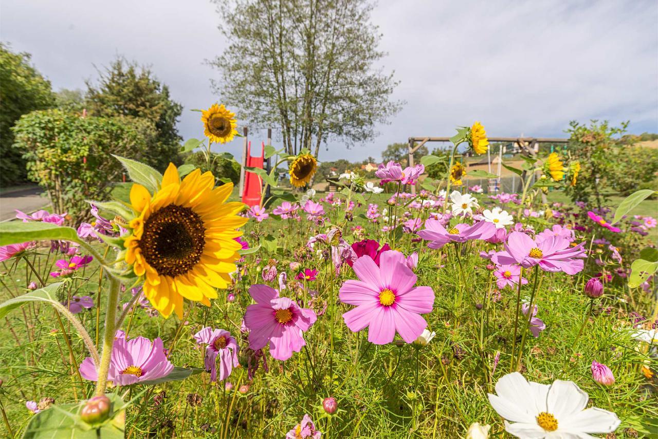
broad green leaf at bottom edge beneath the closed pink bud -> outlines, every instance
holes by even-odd
[[[24,439],[122,439],[124,437],[125,406],[117,394],[106,394],[112,401],[112,413],[97,428],[80,419],[84,401],[52,405],[30,418],[23,433]]]

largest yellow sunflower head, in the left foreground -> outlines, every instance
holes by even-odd
[[[126,263],[145,276],[144,295],[164,317],[182,317],[184,298],[210,305],[215,288],[231,283],[241,249],[236,229],[247,219],[236,215],[242,203],[225,203],[233,185],[214,186],[211,172],[195,169],[181,181],[170,163],[155,194],[140,184],[130,190],[139,216],[128,223]]]

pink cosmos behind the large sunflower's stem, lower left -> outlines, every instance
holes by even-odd
[[[137,337],[126,340],[123,331],[117,331],[107,379],[116,386],[128,386],[142,381],[157,380],[174,370],[174,365],[164,355],[163,341],[156,338]],[[90,381],[98,380],[93,359],[87,357],[80,363],[80,375]]]

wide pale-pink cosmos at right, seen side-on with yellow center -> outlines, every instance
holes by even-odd
[[[561,236],[533,240],[522,232],[511,232],[505,251],[493,255],[492,261],[499,265],[518,263],[526,269],[539,265],[544,271],[576,274],[582,271],[585,257],[582,243],[572,247],[569,240]]]

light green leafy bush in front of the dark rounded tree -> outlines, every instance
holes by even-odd
[[[45,189],[57,213],[68,212],[72,224],[89,217],[86,200],[107,199],[120,179],[122,167],[111,154],[139,159],[155,136],[145,120],[82,117],[61,110],[23,115],[13,131],[28,178]]]

